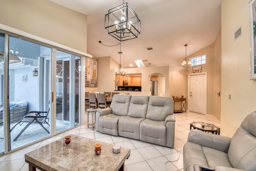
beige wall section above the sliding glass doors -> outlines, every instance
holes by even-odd
[[[86,15],[48,0],[0,0],[0,4],[1,24],[86,53]]]

